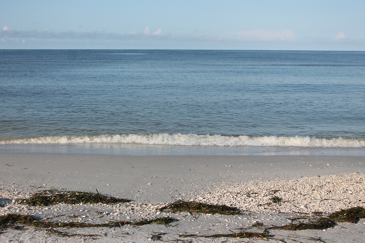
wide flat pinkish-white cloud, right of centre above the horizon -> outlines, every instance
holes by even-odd
[[[248,30],[237,33],[243,40],[294,40],[292,30],[270,31],[270,30]]]

